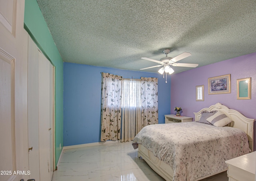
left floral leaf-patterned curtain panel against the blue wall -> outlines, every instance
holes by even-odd
[[[120,140],[121,76],[102,73],[100,141]]]

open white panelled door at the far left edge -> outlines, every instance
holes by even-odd
[[[28,179],[28,34],[24,0],[0,0],[0,180]]]

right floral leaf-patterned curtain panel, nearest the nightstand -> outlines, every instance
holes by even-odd
[[[141,78],[142,80],[142,127],[158,124],[158,79]]]

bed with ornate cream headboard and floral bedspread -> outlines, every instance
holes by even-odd
[[[230,118],[229,126],[215,127],[197,122],[202,112],[214,111]],[[193,122],[148,125],[132,142],[134,149],[138,147],[138,157],[167,181],[197,181],[210,177],[228,169],[226,160],[253,150],[255,119],[221,103],[194,115]]]

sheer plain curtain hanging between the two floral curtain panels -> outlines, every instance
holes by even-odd
[[[122,139],[133,140],[142,129],[141,80],[122,80]]]

